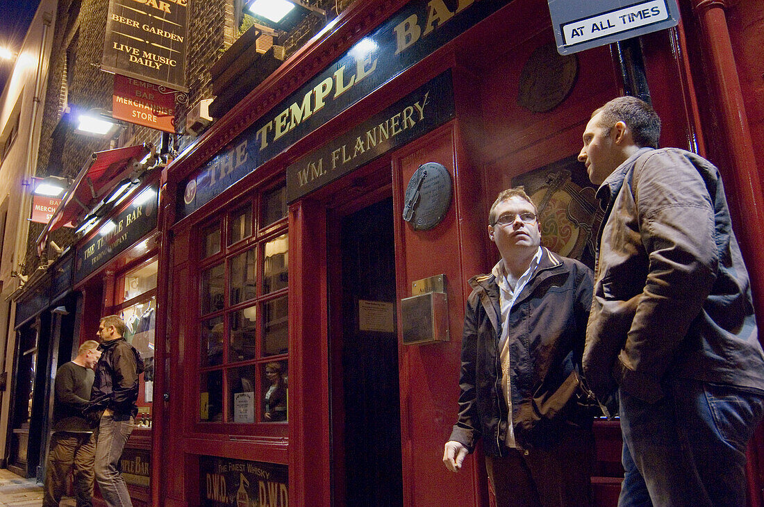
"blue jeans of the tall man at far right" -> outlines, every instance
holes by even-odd
[[[663,387],[652,404],[619,389],[626,473],[618,505],[746,505],[746,445],[764,397],[688,379]]]

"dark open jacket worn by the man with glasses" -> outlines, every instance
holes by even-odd
[[[449,440],[472,452],[483,437],[485,454],[507,447],[507,403],[498,349],[503,322],[493,274],[475,276],[461,339],[458,421]],[[591,270],[542,248],[536,273],[510,311],[510,384],[516,444],[550,447],[561,425],[591,425],[578,406],[584,333],[592,294]]]

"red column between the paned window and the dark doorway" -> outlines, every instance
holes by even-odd
[[[332,505],[325,208],[292,205],[289,231],[290,503]]]

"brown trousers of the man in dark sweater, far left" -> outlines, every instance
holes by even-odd
[[[43,507],[58,507],[66,492],[66,476],[73,470],[77,507],[92,507],[95,440],[89,433],[58,431],[50,438]]]

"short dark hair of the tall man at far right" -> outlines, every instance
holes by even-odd
[[[658,147],[661,137],[661,118],[647,102],[640,98],[626,95],[613,98],[610,102],[596,109],[591,117],[602,113],[600,121],[607,134],[619,121],[623,121],[630,129],[634,143],[640,147]]]

